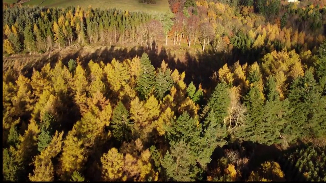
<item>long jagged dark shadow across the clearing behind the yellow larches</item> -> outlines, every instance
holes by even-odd
[[[47,63],[50,63],[51,67],[54,67],[58,60],[61,60],[62,63],[67,66],[70,59],[76,60],[79,58],[82,65],[86,66],[90,60],[94,62],[103,61],[103,63],[107,64],[110,63],[113,58],[122,62],[125,59],[132,59],[136,56],[141,57],[143,53],[147,53],[155,68],[160,67],[164,60],[168,63],[172,72],[174,69],[177,69],[179,73],[185,72],[186,84],[192,81],[196,86],[202,84],[203,89],[208,89],[212,87],[210,78],[213,76],[213,73],[217,73],[225,63],[232,66],[237,61],[239,61],[240,64],[250,61],[248,64],[251,64],[262,57],[262,54],[257,54],[257,50],[240,50],[236,48],[230,52],[221,51],[217,53],[214,53],[210,49],[205,51],[197,50],[196,53],[190,53],[187,50],[184,53],[184,58],[181,58],[181,60],[164,47],[158,50],[157,48],[147,49],[144,47],[133,47],[127,49],[111,46],[109,48],[99,48],[95,52],[85,52],[86,50],[81,48],[63,56],[61,56],[60,52],[54,53],[50,57],[48,55],[43,56],[32,66],[25,67],[23,73],[26,73],[26,77],[31,77],[33,67],[36,70],[40,70]]]

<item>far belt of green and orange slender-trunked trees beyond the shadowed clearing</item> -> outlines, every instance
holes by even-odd
[[[268,5],[264,4],[263,7],[272,6],[278,9],[281,5],[275,4],[275,2],[278,1],[272,1]],[[255,8],[249,6],[250,2],[248,6],[241,7],[240,14],[237,13],[236,7],[222,3],[207,3],[207,1],[194,3],[194,1],[176,0],[170,1],[170,5],[172,12],[175,13],[168,11],[163,14],[147,14],[115,9],[87,8],[84,10],[80,7],[67,7],[66,9],[5,7],[6,9],[3,11],[4,51],[7,54],[22,51],[32,54],[51,52],[54,48],[61,50],[66,46],[84,46],[86,44],[101,46],[137,44],[152,49],[153,46],[156,47],[155,43],[163,38],[165,45],[169,44],[169,39],[173,40],[173,45],[180,45],[183,42],[188,47],[200,43],[203,50],[207,45],[211,45],[209,49],[214,50],[215,53],[237,47],[232,41],[237,38],[241,39],[238,41],[246,42],[245,45],[249,48],[257,47],[255,41],[260,42],[259,45],[274,45],[275,47],[279,44],[287,44],[287,35],[283,36],[282,34],[286,34],[284,28],[285,30],[289,29],[289,25],[286,23],[288,15],[298,15],[299,17],[294,22],[298,21],[302,25],[298,24],[301,28],[289,29],[290,36],[291,34],[293,36],[295,36],[294,34],[307,35],[304,42],[310,49],[323,40],[320,35],[323,31],[323,18],[319,7],[294,8],[293,4],[282,6],[287,9],[286,13],[279,15],[280,18],[275,15],[276,18],[273,19],[275,23],[270,24],[276,25],[273,34],[284,32],[275,40],[274,36],[269,39],[263,32],[257,31],[261,28],[266,29],[268,23],[264,22],[264,17],[254,13]],[[277,14],[273,8],[267,8],[271,12],[265,11],[265,13],[267,12],[267,15],[272,12]],[[268,16],[265,15],[265,17]],[[245,26],[242,27],[242,25]],[[312,30],[308,31],[309,34],[307,26]],[[245,36],[237,37],[235,35]],[[321,38],[318,41],[313,40],[319,35]],[[249,39],[245,40],[245,37]],[[296,41],[293,42],[296,43]],[[229,44],[232,45],[231,48],[228,47]],[[287,47],[300,50],[302,46],[304,45],[289,45]]]

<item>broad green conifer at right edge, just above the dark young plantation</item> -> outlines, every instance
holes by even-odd
[[[319,137],[326,132],[325,97],[321,96],[311,70],[297,77],[290,85],[288,99],[293,113],[285,131],[292,139],[303,136]]]

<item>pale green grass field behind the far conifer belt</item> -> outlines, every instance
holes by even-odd
[[[13,3],[17,0],[4,0],[4,3]],[[39,5],[43,0],[30,0],[23,5]],[[43,7],[67,7],[82,6],[87,8],[117,8],[128,11],[166,12],[169,9],[168,0],[156,0],[156,4],[143,4],[138,0],[45,0],[40,6]]]

